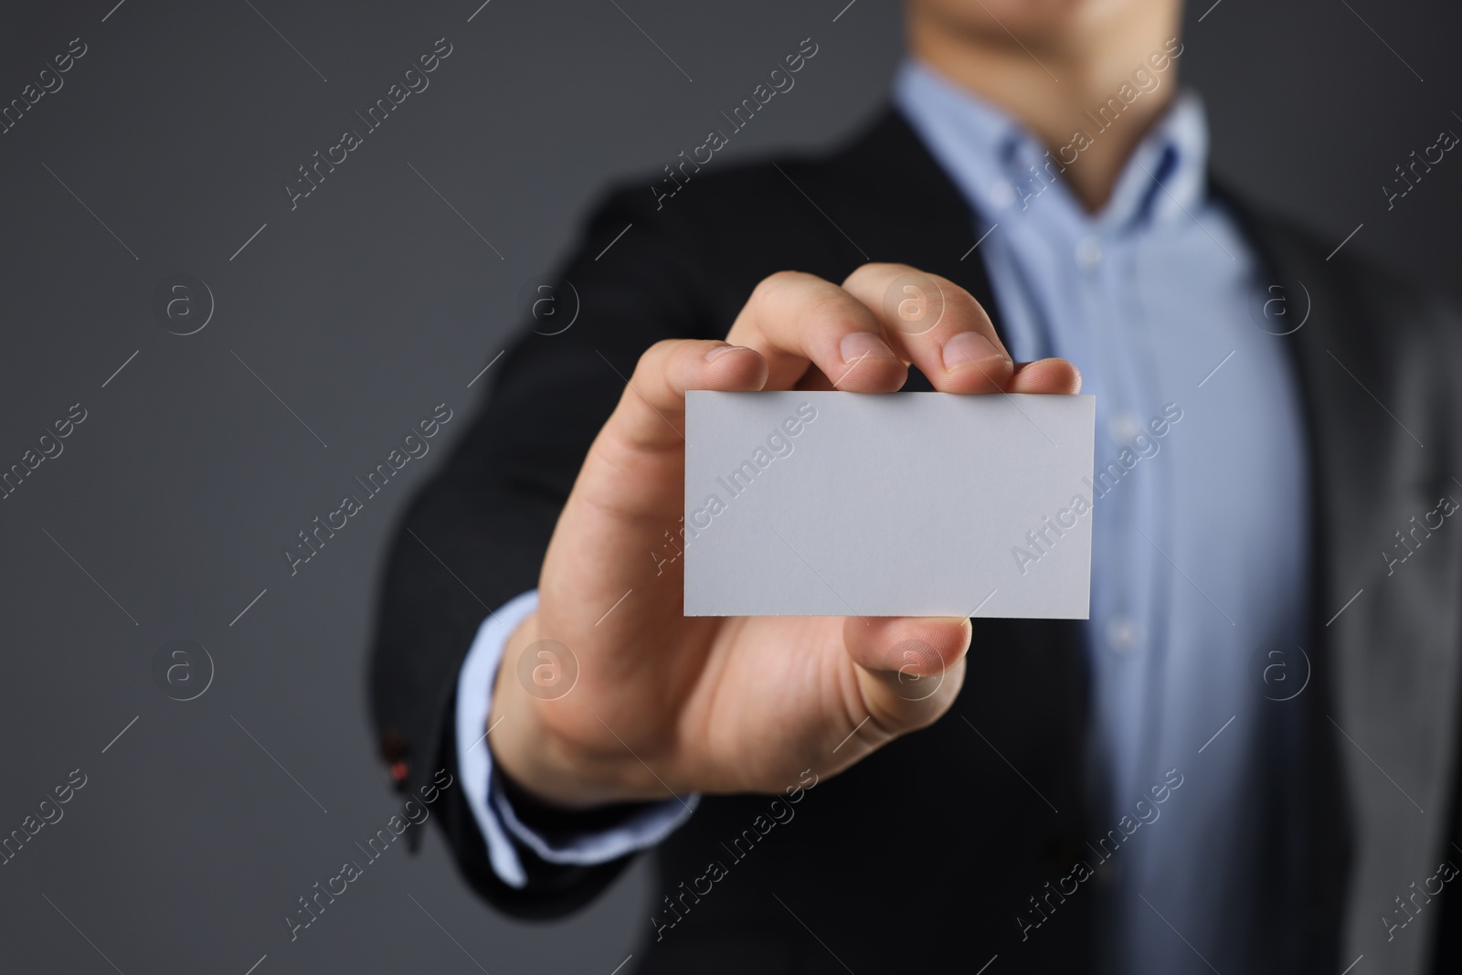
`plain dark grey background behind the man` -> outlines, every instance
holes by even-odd
[[[0,134],[0,468],[88,411],[0,501],[0,833],[88,776],[0,867],[0,969],[241,975],[268,955],[259,975],[472,959],[607,975],[649,933],[643,868],[572,921],[513,924],[434,833],[289,943],[295,898],[393,811],[363,667],[387,531],[605,183],[648,186],[804,37],[817,57],[724,155],[849,133],[899,57],[896,4],[493,0],[468,22],[480,0],[114,3],[0,12],[0,102],[73,37],[89,48]],[[1206,9],[1181,70],[1218,171],[1336,244],[1364,224],[1347,247],[1456,289],[1462,162],[1392,212],[1379,189],[1462,132],[1455,7],[1222,0],[1199,23]],[[440,37],[430,88],[291,212],[295,167]],[[151,311],[174,272],[216,301],[192,336]],[[443,401],[456,420],[431,455],[291,577],[281,548]],[[216,665],[186,703],[151,674],[174,639]]]

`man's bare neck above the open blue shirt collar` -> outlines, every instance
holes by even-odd
[[[1137,143],[1177,94],[1177,63],[1164,45],[1177,37],[1178,23],[1177,16],[1142,12],[1140,18],[1094,26],[1092,32],[1096,37],[1085,34],[1079,44],[1039,44],[1026,50],[1009,35],[1001,35],[1004,42],[1000,42],[958,34],[918,15],[908,23],[912,53],[949,80],[1019,118],[1053,156],[1060,156],[1073,193],[1089,212],[1096,212],[1111,197]],[[1149,61],[1154,53],[1168,58],[1164,70],[1155,70]],[[1133,80],[1136,69],[1155,79],[1156,88],[1148,80],[1145,86],[1151,91],[1142,91]],[[1120,113],[1108,108],[1099,114],[1108,99]],[[1077,132],[1088,139],[1073,145]]]

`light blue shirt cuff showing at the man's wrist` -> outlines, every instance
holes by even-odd
[[[503,659],[503,649],[513,630],[537,607],[538,592],[529,591],[491,612],[478,627],[458,675],[458,773],[468,807],[487,843],[493,873],[510,887],[523,887],[528,883],[528,874],[512,842],[515,838],[547,862],[589,867],[656,845],[690,819],[700,803],[699,795],[675,797],[636,808],[621,823],[608,829],[554,838],[541,836],[519,820],[493,766],[487,728],[493,683]]]

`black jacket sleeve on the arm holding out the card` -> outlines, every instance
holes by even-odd
[[[399,792],[417,792],[440,769],[455,773],[462,661],[493,610],[538,586],[558,512],[640,354],[665,338],[724,335],[728,319],[709,298],[713,268],[708,235],[674,208],[656,209],[640,189],[610,194],[561,272],[545,275],[557,282],[553,316],[519,326],[488,373],[491,395],[408,506],[387,555],[370,694],[379,753]],[[513,800],[531,810],[526,797]],[[434,819],[466,881],[513,915],[570,912],[629,860],[561,865],[520,846],[528,883],[509,887],[487,860],[461,788],[444,791]]]

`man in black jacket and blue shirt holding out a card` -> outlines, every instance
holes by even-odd
[[[848,148],[598,210],[392,554],[398,784],[516,915],[654,848],[645,972],[1446,971],[1455,319],[1211,184],[1177,0],[906,12]],[[1091,620],[683,617],[689,389],[1095,393]]]

